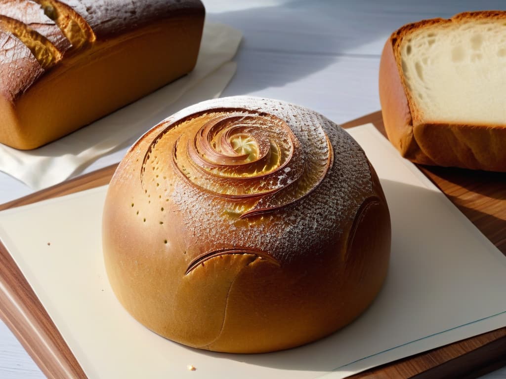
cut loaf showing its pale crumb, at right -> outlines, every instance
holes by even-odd
[[[421,164],[506,171],[506,12],[467,12],[394,32],[379,98],[389,139]]]

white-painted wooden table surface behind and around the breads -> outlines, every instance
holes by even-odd
[[[232,25],[244,35],[237,74],[223,96],[276,98],[312,108],[336,123],[379,110],[379,57],[392,31],[424,18],[504,7],[499,0],[203,2],[208,20]],[[124,153],[102,157],[83,173],[117,163]],[[0,204],[32,192],[0,172]],[[0,321],[0,378],[43,377]],[[506,379],[506,367],[484,378]]]

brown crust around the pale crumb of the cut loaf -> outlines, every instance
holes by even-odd
[[[465,12],[450,19],[422,20],[404,25],[385,43],[379,64],[379,100],[391,143],[412,162],[487,171],[506,171],[504,124],[427,122],[416,107],[402,74],[401,41],[411,31],[445,23],[506,19],[506,12]]]

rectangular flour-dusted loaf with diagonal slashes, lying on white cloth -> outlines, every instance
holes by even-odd
[[[0,0],[0,143],[34,149],[191,71],[200,0]]]

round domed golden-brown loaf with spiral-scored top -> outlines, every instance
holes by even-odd
[[[372,302],[390,214],[355,140],[284,102],[199,103],[141,137],[103,216],[124,308],[173,341],[259,353],[314,341]]]

